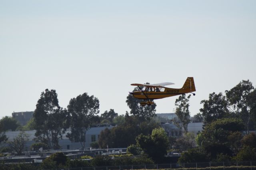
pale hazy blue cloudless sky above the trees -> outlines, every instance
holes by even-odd
[[[61,107],[87,92],[100,113],[131,83],[194,77],[191,115],[209,93],[256,87],[255,0],[0,0],[0,117],[33,111],[46,88]],[[177,97],[156,100],[171,113]]]

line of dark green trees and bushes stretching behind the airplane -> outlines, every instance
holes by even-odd
[[[164,130],[156,119],[156,104],[142,107],[140,100],[130,94],[126,100],[130,112],[118,116],[110,109],[99,116],[96,97],[84,93],[70,99],[67,109],[63,109],[58,104],[56,91],[46,89],[34,111],[37,143],[33,147],[60,148],[58,140],[67,129],[70,130],[67,137],[84,147],[86,130],[101,122],[118,126],[103,130],[93,147],[128,147],[129,153],[145,155],[156,163],[166,161],[164,155],[168,152],[183,151],[186,152],[182,153],[180,162],[256,160],[253,156],[256,137],[250,132],[256,128],[256,90],[249,80],[241,81],[225,91],[225,95],[209,94],[208,99],[201,101],[202,108],[194,117],[190,117],[189,100],[190,95],[184,94],[175,101],[178,118],[168,120],[178,127],[177,135],[173,136],[172,129]],[[197,136],[188,132],[191,121],[204,122]],[[4,130],[1,135],[1,141],[6,140]],[[22,135],[26,138],[25,134],[20,134],[20,138]]]

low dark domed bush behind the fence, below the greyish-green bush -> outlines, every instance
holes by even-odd
[[[178,160],[178,163],[194,163],[194,162],[208,162],[208,156],[199,148],[193,148],[187,152],[183,152]]]

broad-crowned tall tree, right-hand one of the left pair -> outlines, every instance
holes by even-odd
[[[70,130],[67,137],[72,141],[79,141],[85,147],[86,131],[96,123],[96,115],[99,113],[99,100],[84,93],[70,99],[68,113],[70,113]]]

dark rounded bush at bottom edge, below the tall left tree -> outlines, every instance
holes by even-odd
[[[41,167],[43,169],[64,168],[68,160],[62,152],[56,152],[43,160]]]

